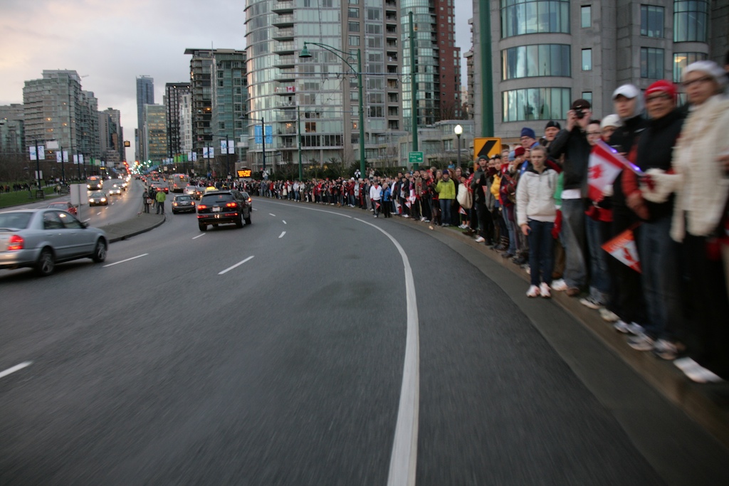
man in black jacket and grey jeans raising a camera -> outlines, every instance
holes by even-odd
[[[585,204],[588,190],[590,143],[587,127],[592,111],[590,102],[579,99],[567,111],[567,125],[550,145],[554,160],[564,155],[562,191],[562,241],[566,251],[564,281],[567,295],[577,297],[587,283],[585,259]],[[555,290],[565,290],[557,289]]]

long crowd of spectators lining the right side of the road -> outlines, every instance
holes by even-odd
[[[564,291],[625,333],[631,348],[674,360],[698,383],[728,380],[727,73],[698,61],[685,68],[682,86],[687,105],[680,107],[673,82],[644,92],[620,86],[615,113],[602,119],[578,99],[564,128],[550,121],[537,137],[525,127],[520,144],[473,168],[249,189],[459,227],[528,271],[529,297]],[[631,163],[595,194],[588,171],[599,141]],[[604,249],[626,230],[639,267]]]

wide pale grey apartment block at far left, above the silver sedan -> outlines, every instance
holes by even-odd
[[[81,89],[76,71],[44,70],[41,79],[26,81],[23,87],[26,145],[55,140],[87,160],[98,159],[97,111],[98,101],[93,92]]]

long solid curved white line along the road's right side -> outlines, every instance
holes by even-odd
[[[405,298],[408,309],[408,337],[405,338],[405,363],[402,366],[402,387],[397,408],[395,437],[392,442],[388,486],[415,486],[416,464],[418,463],[418,414],[420,413],[420,337],[418,330],[418,301],[415,293],[415,278],[408,255],[397,240],[380,227],[363,219],[356,221],[369,224],[391,240],[402,257],[405,267]]]

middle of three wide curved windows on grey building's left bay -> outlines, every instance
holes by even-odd
[[[570,72],[570,46],[541,44],[502,50],[502,79],[564,76]]]

